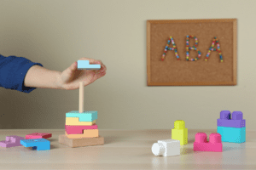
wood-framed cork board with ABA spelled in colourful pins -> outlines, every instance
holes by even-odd
[[[148,86],[236,85],[236,23],[236,19],[147,20]],[[186,60],[188,35],[198,39],[201,57],[195,61]],[[174,39],[180,60],[171,50],[161,59],[170,37]],[[223,62],[218,51],[212,51],[205,60],[214,37],[218,38]],[[194,45],[195,40],[189,38],[189,47]],[[171,42],[169,48],[172,47]],[[189,59],[197,55],[195,50],[189,50]]]

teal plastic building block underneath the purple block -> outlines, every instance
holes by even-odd
[[[246,127],[217,127],[222,142],[243,143],[246,141]]]

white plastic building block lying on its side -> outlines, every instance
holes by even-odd
[[[177,156],[180,155],[180,141],[174,139],[158,140],[151,148],[154,156]]]

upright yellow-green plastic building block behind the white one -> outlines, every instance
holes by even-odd
[[[188,144],[188,128],[185,127],[183,120],[177,120],[174,122],[174,128],[172,128],[172,139],[180,141],[180,144]]]

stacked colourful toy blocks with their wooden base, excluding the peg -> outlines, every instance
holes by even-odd
[[[59,142],[70,147],[104,144],[96,125],[97,111],[70,111],[66,113],[65,135],[60,135]]]

